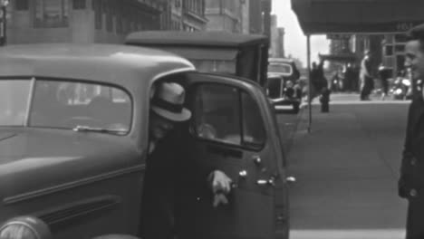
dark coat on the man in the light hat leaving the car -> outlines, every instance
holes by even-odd
[[[184,213],[178,210],[178,200],[198,192],[199,187],[208,190],[207,176],[214,168],[192,158],[190,147],[190,138],[177,129],[161,139],[149,155],[141,203],[143,239],[173,238],[176,214]]]

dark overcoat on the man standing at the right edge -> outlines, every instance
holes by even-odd
[[[400,167],[399,195],[409,201],[407,238],[424,238],[424,100],[410,104]]]

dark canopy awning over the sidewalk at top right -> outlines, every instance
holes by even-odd
[[[403,33],[424,23],[422,0],[292,0],[305,34]]]

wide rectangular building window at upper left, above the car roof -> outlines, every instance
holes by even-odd
[[[53,28],[69,25],[68,0],[35,0],[34,2],[35,27]]]

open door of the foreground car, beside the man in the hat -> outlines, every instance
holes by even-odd
[[[210,168],[224,171],[235,183],[232,192],[227,196],[228,204],[225,206],[212,206],[213,195],[209,190],[198,190],[191,196],[186,196],[181,200],[182,214],[179,219],[179,234],[181,238],[275,238],[275,185],[273,179],[278,178],[278,170],[275,169],[274,145],[272,139],[265,136],[261,138],[261,133],[255,132],[263,129],[265,132],[265,119],[260,111],[260,105],[255,99],[255,92],[251,91],[249,85],[242,81],[234,80],[230,77],[222,77],[208,74],[193,73],[188,75],[188,104],[193,111],[192,135],[194,137],[192,157],[198,160],[199,164]],[[215,100],[217,108],[226,110],[215,110],[208,107],[197,109],[196,95],[198,87],[202,85],[211,86],[202,91],[199,95],[204,101]],[[228,95],[213,95],[214,86],[216,92],[227,91]],[[231,89],[226,89],[226,87]],[[210,90],[210,91],[209,91]],[[222,91],[221,91],[222,90]],[[215,90],[214,90],[215,91]],[[234,94],[233,94],[234,92]],[[210,95],[208,95],[210,94]],[[231,100],[239,99],[240,105],[236,106]],[[257,112],[258,119],[256,125],[246,126],[244,120],[244,110],[242,104],[249,101],[252,105],[252,112]],[[191,100],[191,101],[190,101]],[[266,100],[264,98],[264,100]],[[204,102],[202,101],[202,104]],[[234,104],[234,109],[230,106]],[[246,104],[245,106],[248,106]],[[257,108],[257,109],[256,109]],[[208,115],[208,111],[222,115],[216,117],[213,113]],[[229,119],[232,114],[239,110],[240,121],[234,122]],[[199,116],[200,114],[200,116]],[[217,119],[215,119],[217,118]],[[257,118],[257,117],[256,117]],[[208,129],[210,132],[199,132],[196,120],[210,119]],[[256,121],[255,121],[256,122]],[[255,124],[253,122],[252,124]],[[215,125],[214,125],[215,124]],[[241,126],[240,126],[241,125]],[[217,127],[218,126],[218,127]],[[240,126],[240,140],[234,134],[235,127]],[[219,129],[221,128],[221,129]],[[246,129],[245,129],[246,128]],[[257,129],[256,129],[257,128]],[[215,131],[214,131],[215,130]],[[229,134],[226,136],[225,133]],[[268,133],[265,132],[265,135]],[[258,136],[259,137],[255,137]],[[257,144],[256,139],[262,142]],[[196,189],[195,189],[196,190]]]

